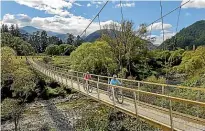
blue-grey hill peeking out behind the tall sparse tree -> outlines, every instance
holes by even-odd
[[[97,30],[97,31],[95,31],[95,32],[93,32],[93,33],[91,33],[91,34],[89,34],[89,35],[84,39],[84,41],[86,41],[86,42],[94,42],[94,41],[96,41],[98,38],[100,38],[101,35],[102,35],[103,33],[105,33],[105,32],[106,32],[105,29]],[[119,32],[118,32],[118,33],[119,33]],[[113,34],[111,31],[109,31],[109,35],[111,35],[111,37],[114,37],[114,34]],[[149,50],[153,50],[153,49],[156,49],[157,46],[155,46],[155,45],[153,45],[153,43],[147,41],[147,48],[148,48]]]

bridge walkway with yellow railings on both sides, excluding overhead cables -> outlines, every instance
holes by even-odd
[[[101,75],[92,75],[92,80],[89,80],[94,87],[92,93],[89,93],[84,90],[82,81],[83,74],[82,72],[71,71],[68,69],[58,68],[52,65],[44,64],[39,62],[38,59],[29,57],[28,62],[30,65],[43,73],[44,75],[52,78],[53,80],[76,90],[84,95],[91,97],[94,100],[100,101],[108,106],[116,108],[119,111],[122,111],[128,115],[139,117],[144,119],[145,121],[161,128],[164,131],[168,130],[179,130],[179,131],[204,131],[205,130],[205,117],[200,115],[190,115],[177,110],[174,110],[173,103],[185,104],[186,108],[190,108],[190,105],[193,105],[197,110],[201,109],[203,112],[205,111],[205,103],[202,101],[195,101],[190,99],[184,99],[180,97],[174,97],[167,95],[166,92],[169,90],[167,88],[174,89],[182,89],[182,90],[193,90],[199,93],[205,93],[205,89],[203,88],[191,88],[191,87],[183,87],[176,85],[166,85],[166,84],[157,84],[151,82],[143,82],[143,81],[133,81],[127,79],[121,79],[122,83],[125,86],[116,86],[115,88],[119,88],[123,90],[124,102],[119,104],[115,99],[110,99],[107,95],[106,88],[110,87],[109,81],[111,77],[101,76]],[[137,87],[135,88],[134,84],[130,87],[129,83],[136,83]],[[154,87],[161,88],[161,93],[156,92],[148,92],[143,91],[142,85],[147,84]],[[127,87],[126,87],[127,85]],[[151,98],[151,100],[144,100],[146,98]],[[114,98],[114,97],[113,97]],[[157,98],[157,99],[156,99]],[[159,99],[163,99],[168,102],[167,106],[160,106],[159,104],[153,103],[153,101],[157,101]],[[151,102],[152,101],[152,102]],[[163,103],[163,101],[161,101]],[[191,110],[191,108],[190,108]]]

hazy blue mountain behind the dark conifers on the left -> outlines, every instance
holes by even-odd
[[[37,31],[43,31],[42,29],[38,29],[38,28],[35,28],[33,26],[24,26],[22,28],[20,28],[20,32],[22,34],[33,34],[33,32],[37,32]],[[46,31],[48,36],[56,36],[56,37],[59,37],[61,40],[63,41],[66,41],[67,38],[68,38],[68,35],[67,34],[61,34],[61,33],[57,33],[57,32],[52,32],[52,31]]]

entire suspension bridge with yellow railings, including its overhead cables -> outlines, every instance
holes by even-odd
[[[177,16],[176,32],[178,30],[179,18],[181,7],[189,3],[188,0],[180,6],[171,10],[163,15],[162,2],[160,0],[160,18],[148,24],[145,28],[150,28],[150,37],[152,33],[152,26],[154,23],[161,20],[163,41],[164,41],[164,27],[163,18],[171,14],[172,12],[179,10]],[[86,35],[86,30],[98,18],[99,28],[101,29],[100,13],[104,7],[108,4],[108,1],[102,6],[100,11],[91,20],[88,26],[80,34]],[[120,1],[121,5],[121,1]],[[121,5],[121,19],[124,21],[123,10]],[[122,30],[123,32],[123,30]],[[151,39],[151,38],[150,38]],[[177,42],[176,35],[174,43]],[[166,48],[164,48],[166,49]],[[67,52],[67,51],[65,51]],[[86,96],[91,97],[96,101],[100,101],[108,106],[111,106],[117,110],[120,110],[133,117],[142,118],[146,122],[153,124],[161,128],[164,131],[177,130],[177,131],[205,131],[205,103],[200,99],[200,96],[205,95],[205,89],[197,87],[184,87],[176,85],[167,85],[159,83],[151,83],[144,81],[120,79],[123,83],[122,86],[116,86],[122,90],[124,102],[119,104],[113,94],[114,99],[110,99],[107,94],[107,89],[110,88],[109,81],[111,77],[92,74],[92,80],[89,80],[91,86],[94,88],[92,93],[85,91],[83,88],[83,72],[71,71],[64,68],[55,67],[52,65],[39,62],[35,57],[28,57],[30,65],[48,76],[49,78],[65,85],[68,88],[72,88]],[[143,88],[151,87],[150,91],[143,90]],[[193,99],[182,98],[182,96],[173,96],[172,92],[175,91],[193,91],[197,92],[198,97]],[[180,94],[180,93],[179,93]]]

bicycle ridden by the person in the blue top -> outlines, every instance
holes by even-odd
[[[114,89],[112,89],[112,88],[114,88]],[[117,102],[119,104],[122,104],[123,101],[124,101],[124,96],[122,94],[122,89],[119,89],[119,88],[116,88],[116,87],[109,87],[108,95],[109,95],[110,100],[113,100],[113,91],[114,91],[114,97],[117,100]]]

